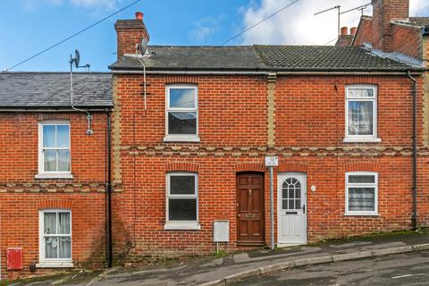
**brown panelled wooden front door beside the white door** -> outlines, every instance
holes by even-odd
[[[264,174],[237,175],[237,242],[264,245]]]

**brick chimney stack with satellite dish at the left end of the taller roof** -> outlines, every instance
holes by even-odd
[[[122,55],[136,54],[136,45],[140,44],[142,38],[149,41],[141,12],[136,12],[136,19],[116,21],[114,29],[116,29],[118,59]]]

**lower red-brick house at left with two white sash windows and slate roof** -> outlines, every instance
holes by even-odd
[[[0,72],[4,279],[11,248],[21,248],[14,265],[19,267],[22,257],[22,275],[105,261],[106,113],[113,107],[112,78],[94,72],[73,78],[74,108],[81,111],[71,107],[70,73]]]

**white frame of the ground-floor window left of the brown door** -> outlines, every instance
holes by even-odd
[[[195,178],[195,193],[193,195],[172,195],[170,193],[171,176],[193,176]],[[195,230],[199,231],[198,215],[198,173],[197,172],[167,172],[165,175],[165,225],[164,230]],[[195,198],[197,200],[197,220],[196,221],[170,221],[169,220],[169,198]]]

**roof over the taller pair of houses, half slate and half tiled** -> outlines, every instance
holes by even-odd
[[[148,71],[405,71],[404,63],[356,46],[149,46]],[[142,70],[124,55],[112,71]]]

